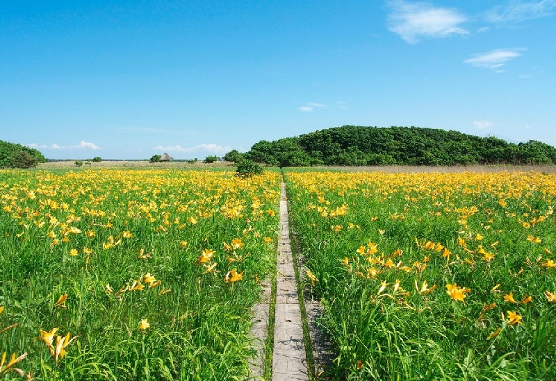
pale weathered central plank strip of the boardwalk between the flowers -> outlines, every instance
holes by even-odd
[[[281,184],[274,354],[272,355],[272,381],[281,380],[309,380],[284,183]]]

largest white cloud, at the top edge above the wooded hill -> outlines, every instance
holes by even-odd
[[[439,8],[430,3],[389,2],[389,29],[405,42],[416,44],[419,37],[448,37],[469,33],[459,25],[467,18],[457,10]]]

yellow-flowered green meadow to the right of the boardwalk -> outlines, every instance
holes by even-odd
[[[329,379],[556,379],[554,173],[285,178]]]

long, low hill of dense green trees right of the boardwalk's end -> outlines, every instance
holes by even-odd
[[[419,127],[343,126],[255,143],[245,158],[279,167],[326,165],[556,164],[543,142],[509,143]]]

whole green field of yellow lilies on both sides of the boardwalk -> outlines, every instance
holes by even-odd
[[[0,171],[0,378],[245,380],[278,171],[63,163]],[[284,169],[329,379],[556,379],[554,167],[380,169]]]

